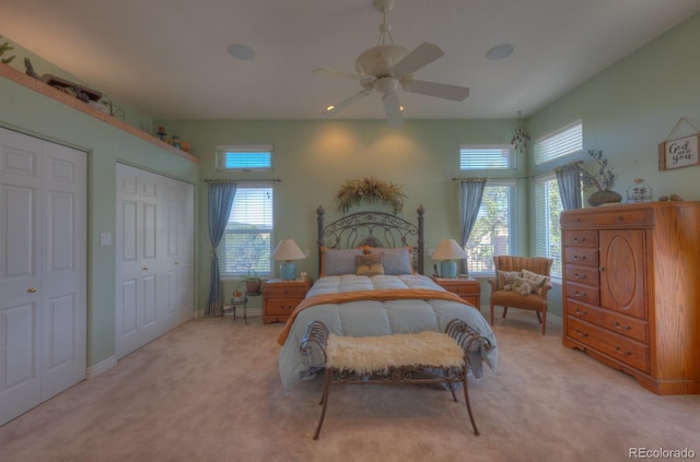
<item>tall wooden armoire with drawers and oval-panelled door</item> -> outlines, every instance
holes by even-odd
[[[700,393],[700,202],[561,214],[563,344],[657,394]]]

